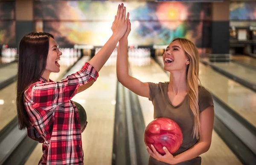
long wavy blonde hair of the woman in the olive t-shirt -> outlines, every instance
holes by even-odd
[[[185,51],[186,57],[189,58],[189,65],[187,68],[187,85],[188,85],[188,98],[189,107],[194,116],[194,127],[193,127],[193,137],[199,139],[200,135],[200,121],[199,121],[199,106],[198,106],[198,85],[199,80],[199,55],[198,49],[195,44],[190,40],[184,38],[175,38],[173,41],[178,40],[183,50]],[[172,42],[173,42],[172,41]]]

